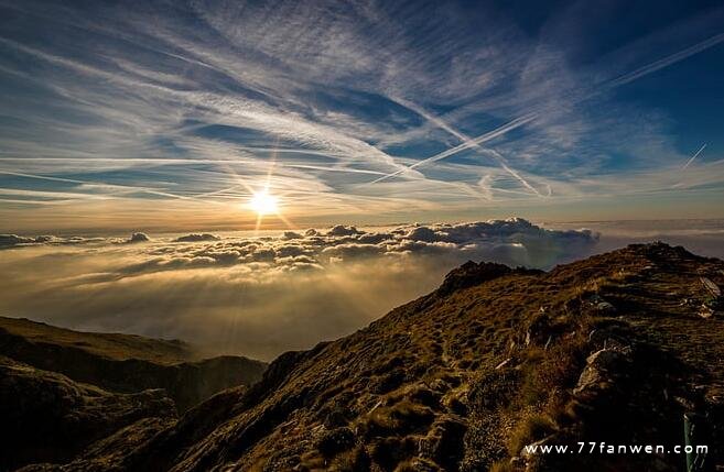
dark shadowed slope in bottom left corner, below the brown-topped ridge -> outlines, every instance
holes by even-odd
[[[0,356],[0,470],[66,462],[120,428],[142,421],[159,430],[175,416],[163,391],[114,394]]]

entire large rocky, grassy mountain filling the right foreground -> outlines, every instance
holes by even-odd
[[[467,263],[352,336],[282,354],[246,392],[24,470],[681,471],[684,454],[527,448],[689,441],[710,448],[691,470],[713,471],[723,271],[661,243],[548,273]]]

